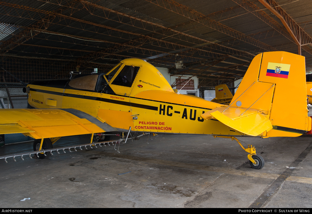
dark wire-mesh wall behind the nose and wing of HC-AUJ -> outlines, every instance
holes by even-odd
[[[90,74],[96,69],[106,73],[114,66],[69,60],[0,57],[0,108],[27,108],[27,94],[22,92],[24,85],[20,82],[70,78],[71,71]],[[23,134],[0,135],[0,145],[28,140],[32,138]]]

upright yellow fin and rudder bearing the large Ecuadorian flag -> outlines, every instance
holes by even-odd
[[[252,60],[231,106],[267,114],[273,128],[264,136],[300,136],[311,129],[305,81],[305,57],[283,51],[259,54]],[[284,105],[286,98],[291,102]]]

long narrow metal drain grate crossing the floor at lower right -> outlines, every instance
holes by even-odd
[[[290,176],[290,174],[296,169],[298,164],[305,158],[305,156],[311,151],[312,143],[292,162],[289,168],[278,177],[276,180],[264,191],[255,202],[253,202],[249,208],[261,208],[266,201],[273,195],[273,193],[280,187],[280,185]]]

